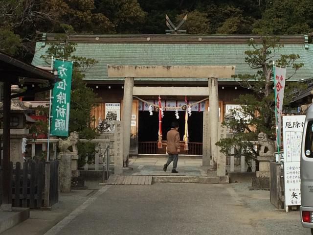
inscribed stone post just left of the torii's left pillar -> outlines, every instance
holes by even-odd
[[[123,122],[115,121],[114,130],[114,175],[123,174]]]

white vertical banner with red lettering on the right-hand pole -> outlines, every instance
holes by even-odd
[[[286,82],[286,68],[275,67],[275,111],[276,111],[276,136],[277,145],[281,143],[281,130],[282,130],[282,111],[284,90]]]

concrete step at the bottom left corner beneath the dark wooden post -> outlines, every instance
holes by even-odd
[[[29,218],[29,208],[13,207],[13,211],[0,211],[0,233]]]

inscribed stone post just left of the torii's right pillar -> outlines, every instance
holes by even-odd
[[[211,160],[210,118],[209,112],[203,112],[202,166],[209,166]]]

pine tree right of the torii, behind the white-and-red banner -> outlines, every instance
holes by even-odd
[[[257,141],[258,133],[266,133],[270,140],[275,140],[275,101],[273,84],[272,61],[274,52],[283,45],[279,44],[279,38],[262,38],[262,44],[249,42],[251,50],[245,52],[246,63],[257,70],[256,74],[238,74],[235,80],[244,88],[253,91],[253,94],[242,94],[234,101],[240,104],[239,109],[232,110],[234,118],[224,122],[228,128],[234,131],[233,138],[226,138],[218,143],[224,154],[229,155],[230,148],[235,147],[235,155],[245,155],[247,158],[256,158],[258,152],[253,149],[253,141]],[[299,55],[281,55],[275,60],[275,64],[293,71],[293,76],[303,64],[296,63]],[[287,77],[286,80],[291,78]],[[290,101],[301,91],[306,89],[305,84],[289,83],[285,85],[283,109],[288,109]],[[240,111],[240,112],[239,112]],[[241,116],[238,116],[241,113]],[[249,118],[246,118],[249,117]]]

